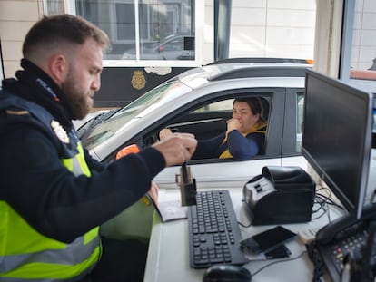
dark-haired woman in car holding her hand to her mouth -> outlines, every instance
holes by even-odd
[[[266,123],[261,117],[262,106],[258,98],[235,99],[233,118],[227,121],[227,131],[207,140],[199,140],[193,159],[247,160],[263,154]],[[171,134],[169,129],[160,132],[163,140]]]

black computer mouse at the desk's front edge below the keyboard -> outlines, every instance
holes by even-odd
[[[241,266],[215,265],[203,273],[203,282],[250,282],[251,272]]]

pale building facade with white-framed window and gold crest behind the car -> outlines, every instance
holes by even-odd
[[[213,62],[221,1],[1,0],[2,75],[18,69],[25,34],[40,17],[82,15],[111,39],[96,106],[124,105],[177,73]],[[338,68],[344,0],[228,1],[228,57],[314,59],[324,72]],[[376,58],[376,2],[355,3],[351,67],[368,69]]]

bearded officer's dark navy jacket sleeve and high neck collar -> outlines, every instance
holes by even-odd
[[[26,60],[3,92],[44,107],[64,131],[74,131],[64,93],[41,69]],[[163,170],[163,155],[148,148],[104,165],[85,151],[92,176],[75,177],[45,124],[20,109],[0,112],[0,199],[47,237],[71,242],[132,205]],[[73,216],[74,215],[74,216]]]

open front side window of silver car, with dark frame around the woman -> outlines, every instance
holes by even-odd
[[[258,88],[245,91],[242,89],[242,92],[214,92],[212,95],[206,96],[206,99],[197,99],[187,104],[180,104],[180,107],[175,107],[173,112],[166,112],[161,118],[155,119],[153,122],[148,119],[147,122],[152,122],[149,126],[119,145],[117,150],[108,155],[104,161],[113,161],[117,151],[133,143],[140,150],[152,146],[159,141],[159,132],[164,128],[177,132],[193,133],[199,140],[223,134],[227,129],[226,122],[232,117],[233,100],[247,97],[258,97],[262,101],[262,118],[267,123],[264,154],[253,156],[250,160],[268,159],[267,161],[272,161],[272,159],[281,158],[285,93],[285,88]],[[155,111],[161,111],[158,108]],[[125,125],[123,131],[128,131]],[[190,162],[197,164],[233,161],[239,160],[219,158],[190,160]]]

